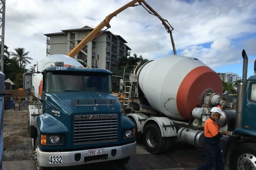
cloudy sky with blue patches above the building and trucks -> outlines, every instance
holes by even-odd
[[[23,47],[37,62],[46,56],[45,33],[96,27],[129,0],[7,0],[5,44]],[[242,75],[241,52],[249,57],[248,75],[256,58],[255,0],[146,0],[174,27],[178,55],[202,60],[216,72]],[[110,21],[132,49],[147,59],[173,54],[170,35],[161,21],[141,7],[128,8]],[[34,64],[34,61],[32,62]]]

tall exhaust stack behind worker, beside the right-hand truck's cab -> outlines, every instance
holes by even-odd
[[[242,127],[242,114],[243,114],[243,105],[244,105],[244,95],[246,90],[247,82],[247,66],[248,66],[248,57],[245,50],[242,51],[243,62],[243,75],[242,83],[238,83],[237,86],[237,109],[236,109],[236,128]]]

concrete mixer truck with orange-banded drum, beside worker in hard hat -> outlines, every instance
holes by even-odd
[[[135,66],[124,91],[124,112],[136,124],[136,139],[143,139],[150,153],[162,153],[175,141],[204,148],[203,127],[210,109],[221,107],[220,130],[225,163],[232,170],[256,168],[256,74],[237,90],[237,110],[225,110],[219,75],[196,58],[172,55]],[[256,62],[255,62],[256,73]],[[129,103],[128,101],[136,102]]]

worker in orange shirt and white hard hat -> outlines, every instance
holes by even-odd
[[[219,143],[221,142],[222,135],[227,135],[228,132],[219,132],[219,125],[216,123],[216,121],[222,116],[221,109],[219,107],[212,107],[210,112],[210,118],[208,118],[204,123],[207,162],[196,170],[211,170],[214,167],[214,164],[216,170],[224,170],[225,167]]]

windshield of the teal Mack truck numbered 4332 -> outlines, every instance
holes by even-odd
[[[71,91],[111,93],[110,75],[95,72],[47,72],[46,92],[58,93]]]

